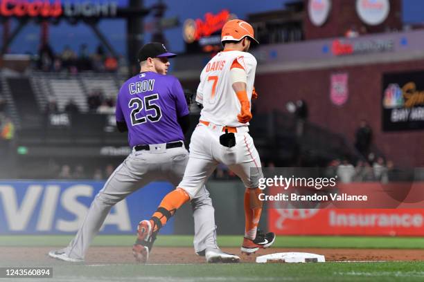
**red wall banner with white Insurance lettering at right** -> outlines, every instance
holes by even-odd
[[[268,187],[268,227],[280,235],[424,236],[423,191],[424,182],[408,181]]]

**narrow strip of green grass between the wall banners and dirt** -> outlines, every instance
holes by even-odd
[[[0,246],[64,246],[73,236],[0,236]],[[135,236],[102,235],[94,238],[96,246],[128,246]],[[241,236],[218,236],[221,247],[239,247]],[[191,247],[193,236],[158,236],[156,246]],[[416,237],[353,237],[353,236],[278,236],[274,247],[348,247],[377,249],[424,249],[424,238]]]

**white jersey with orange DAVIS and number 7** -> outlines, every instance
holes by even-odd
[[[229,50],[218,53],[203,68],[197,88],[196,102],[203,104],[200,120],[222,126],[248,126],[238,122],[241,105],[233,90],[230,69],[234,60],[245,68],[247,98],[251,100],[256,73],[256,59],[246,52]]]

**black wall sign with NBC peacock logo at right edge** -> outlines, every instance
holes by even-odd
[[[424,129],[424,70],[383,75],[382,129]]]

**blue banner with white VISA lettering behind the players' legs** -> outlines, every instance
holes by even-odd
[[[0,234],[75,234],[103,181],[0,181]],[[112,207],[100,234],[136,234],[173,190],[152,182]],[[171,219],[161,234],[173,234]]]

